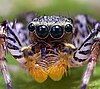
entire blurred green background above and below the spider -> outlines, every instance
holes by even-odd
[[[39,15],[63,15],[72,18],[78,14],[87,14],[99,20],[100,0],[0,0],[0,21],[13,20],[18,14],[29,11]],[[85,65],[71,69],[69,75],[61,81],[48,79],[39,84],[20,67],[16,67],[19,65],[10,54],[7,55],[7,62],[9,66],[13,65],[10,73],[14,89],[79,89],[86,68]],[[0,89],[5,89],[1,75]],[[100,63],[95,68],[89,89],[100,89]]]

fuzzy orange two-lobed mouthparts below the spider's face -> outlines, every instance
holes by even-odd
[[[41,52],[28,58],[27,67],[38,82],[44,82],[48,76],[54,81],[62,78],[70,68],[69,55],[56,49],[43,48]]]

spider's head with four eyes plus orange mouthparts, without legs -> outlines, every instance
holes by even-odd
[[[71,20],[60,16],[41,16],[34,18],[28,29],[34,49],[31,50],[34,53],[31,58],[30,55],[25,57],[30,73],[38,82],[43,82],[48,76],[53,80],[60,80],[69,68],[72,55],[64,52],[66,44],[72,43]]]

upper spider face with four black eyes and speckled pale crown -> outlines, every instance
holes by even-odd
[[[30,36],[32,40],[37,41],[69,41],[72,37],[73,25],[72,21],[60,16],[41,16],[34,18],[28,24]]]

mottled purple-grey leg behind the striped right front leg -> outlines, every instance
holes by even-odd
[[[73,44],[79,48],[92,30],[89,30],[88,25],[93,28],[97,21],[87,15],[78,15],[75,17],[73,29]]]

